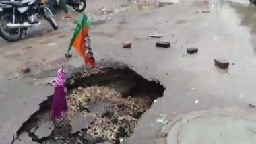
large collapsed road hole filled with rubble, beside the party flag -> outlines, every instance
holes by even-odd
[[[13,143],[121,143],[165,89],[159,81],[148,81],[128,67],[82,70],[66,86],[69,119],[51,122],[49,96],[17,131]]]

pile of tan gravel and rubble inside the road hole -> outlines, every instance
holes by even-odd
[[[150,98],[122,98],[120,92],[111,87],[92,86],[74,89],[67,97],[68,115],[93,114],[95,122],[86,133],[94,140],[119,141],[129,137],[141,114],[150,108]]]

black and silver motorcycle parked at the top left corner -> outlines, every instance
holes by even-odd
[[[44,3],[36,0],[0,1],[0,36],[16,42],[29,27],[39,26],[42,16],[54,30],[58,29],[53,13]]]

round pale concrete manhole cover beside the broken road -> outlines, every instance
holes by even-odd
[[[167,144],[254,144],[256,143],[254,120],[224,112],[219,114],[206,111],[193,112],[171,120],[162,129],[162,136],[164,143]]]

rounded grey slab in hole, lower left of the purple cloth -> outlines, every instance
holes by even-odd
[[[51,129],[49,129],[51,127]],[[49,137],[53,131],[54,127],[51,122],[42,123],[38,129],[35,131],[35,135],[38,137],[38,139]]]

